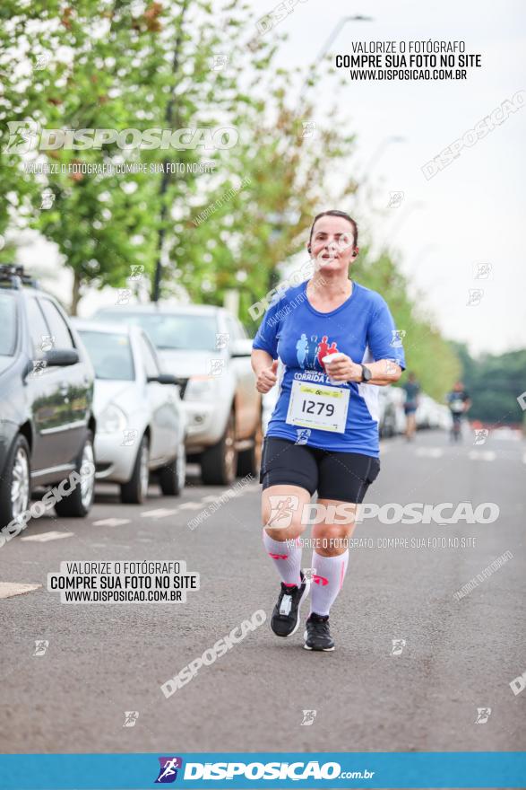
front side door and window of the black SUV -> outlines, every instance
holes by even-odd
[[[46,351],[56,346],[40,302],[36,295],[26,297],[33,355],[33,369],[26,378],[26,387],[35,430],[31,459],[31,477],[35,482],[39,472],[56,466],[67,467],[72,460],[67,439],[71,404],[63,386],[63,369],[46,364]]]

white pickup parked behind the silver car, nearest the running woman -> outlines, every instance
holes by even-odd
[[[236,474],[259,474],[262,401],[250,364],[252,340],[237,318],[212,305],[116,305],[99,320],[140,326],[163,368],[181,382],[188,421],[188,461],[203,483],[230,485]]]

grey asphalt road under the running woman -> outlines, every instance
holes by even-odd
[[[384,443],[367,500],[493,502],[495,523],[367,520],[354,537],[374,546],[351,551],[333,653],[304,650],[303,628],[280,640],[267,621],[168,699],[161,683],[254,611],[270,618],[279,583],[261,544],[259,485],[194,530],[189,519],[224,492],[192,474],[181,497],[151,487],[147,504],[120,505],[107,487],[84,521],[31,522],[0,549],[1,750],[523,750],[526,690],[515,696],[509,684],[526,671],[526,447],[472,442],[450,446],[434,432]],[[378,545],[392,537],[474,540]],[[454,597],[504,552],[513,555],[504,566]],[[143,559],[185,560],[201,588],[185,603],[68,605],[47,592],[62,561]],[[20,587],[5,583],[39,586],[13,594]],[[393,639],[405,640],[401,654]],[[36,640],[48,641],[44,654]],[[486,723],[475,723],[478,708],[491,708]],[[302,724],[304,710],[316,712],[312,724]],[[125,711],[139,713],[134,725],[124,726]]]

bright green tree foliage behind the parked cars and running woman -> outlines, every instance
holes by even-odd
[[[123,287],[133,265],[152,277],[162,259],[162,296],[177,283],[195,302],[222,304],[237,288],[240,318],[254,331],[248,307],[303,248],[312,216],[346,205],[358,189],[348,176],[340,192],[327,190],[332,172],[346,172],[354,144],[337,97],[326,118],[316,117],[315,133],[305,133],[322,66],[309,69],[305,92],[292,101],[304,75],[275,66],[283,37],[254,35],[253,13],[235,2],[4,0],[0,19],[2,128],[30,119],[57,129],[233,127],[239,134],[225,150],[59,148],[39,154],[37,162],[57,166],[45,176],[24,171],[35,154],[4,152],[0,134],[0,233],[25,224],[56,242],[73,270],[73,313],[87,288]],[[227,60],[213,68],[218,56]],[[215,171],[192,171],[202,160]],[[168,162],[190,170],[170,174]],[[80,163],[153,171],[68,170]],[[55,198],[49,209],[40,208],[44,188]],[[13,259],[13,250],[0,251],[2,259]],[[353,276],[384,296],[406,332],[410,370],[442,399],[459,373],[457,356],[410,302],[390,255],[371,259],[362,250]]]

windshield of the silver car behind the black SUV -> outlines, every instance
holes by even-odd
[[[134,382],[134,357],[127,335],[91,329],[81,329],[79,334],[88,349],[98,379]]]

